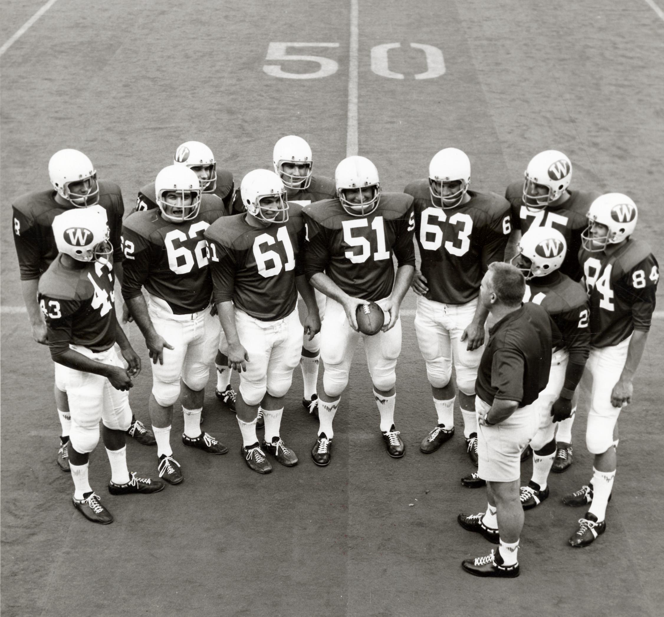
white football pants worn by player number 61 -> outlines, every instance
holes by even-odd
[[[266,393],[277,398],[286,396],[301,355],[302,326],[297,309],[284,319],[261,321],[236,308],[235,325],[249,355],[246,371],[240,373],[244,402],[257,405]]]

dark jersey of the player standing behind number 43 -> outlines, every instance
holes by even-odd
[[[110,240],[113,244],[113,260],[122,262],[122,217],[124,203],[118,185],[98,181],[99,205],[106,210]],[[55,201],[55,191],[35,191],[21,195],[13,203],[13,232],[16,253],[19,257],[21,280],[39,278],[58,254],[53,236],[53,219],[74,205],[62,206]]]

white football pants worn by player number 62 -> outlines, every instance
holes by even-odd
[[[191,390],[205,388],[214,361],[221,326],[210,308],[198,313],[174,315],[167,302],[149,296],[148,313],[155,330],[175,349],[163,350],[163,365],[152,365],[152,393],[167,407],[180,395],[180,379]]]

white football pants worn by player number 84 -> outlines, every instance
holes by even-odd
[[[581,379],[581,389],[590,400],[586,445],[590,454],[603,454],[614,443],[614,428],[620,407],[611,404],[611,393],[627,361],[631,336],[612,347],[590,348],[590,357]]]

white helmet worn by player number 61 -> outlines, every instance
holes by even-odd
[[[246,211],[267,223],[288,220],[288,195],[282,179],[269,169],[254,169],[240,183]]]

